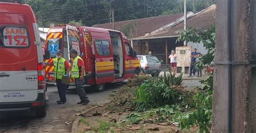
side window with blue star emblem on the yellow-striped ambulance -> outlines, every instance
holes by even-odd
[[[95,40],[96,51],[101,56],[110,55],[109,41]]]

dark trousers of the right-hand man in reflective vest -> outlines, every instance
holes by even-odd
[[[76,88],[77,88],[77,93],[79,95],[79,98],[81,101],[89,101],[85,91],[84,91],[84,82],[81,81],[79,78],[75,78],[75,82],[76,82]]]

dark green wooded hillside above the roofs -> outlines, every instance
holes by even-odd
[[[110,23],[110,7],[115,12],[115,21],[156,17],[184,10],[183,1],[169,0],[25,0],[24,3],[32,7],[39,26],[45,27],[51,23],[68,24],[69,20],[82,20],[86,26]],[[187,11],[196,13],[211,4],[214,0],[188,0]]]

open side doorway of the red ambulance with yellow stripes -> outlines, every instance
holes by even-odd
[[[120,34],[116,32],[110,32],[110,38],[113,48],[113,60],[114,60],[114,78],[123,77],[123,48]]]

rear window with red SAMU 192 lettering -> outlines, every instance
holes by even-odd
[[[0,47],[26,48],[29,45],[28,30],[25,27],[0,28]]]

